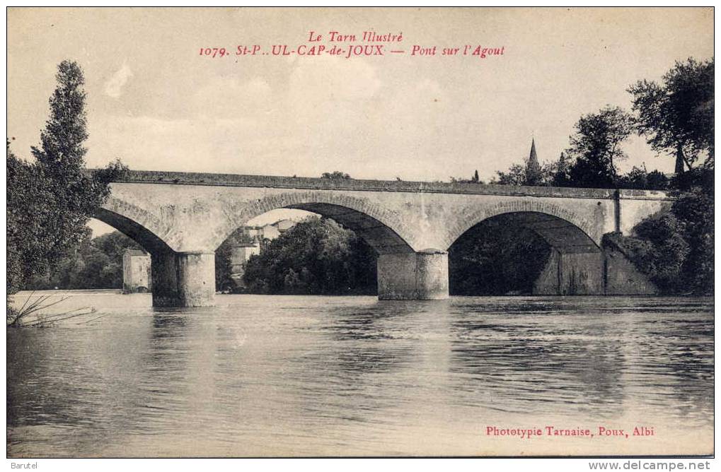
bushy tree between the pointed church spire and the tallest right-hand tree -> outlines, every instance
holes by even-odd
[[[618,106],[581,117],[570,136],[567,154],[575,158],[570,169],[572,185],[611,188],[616,182],[616,162],[627,158],[621,148],[633,130],[631,116]]]

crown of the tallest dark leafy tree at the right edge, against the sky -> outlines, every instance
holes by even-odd
[[[658,153],[676,156],[676,172],[691,169],[703,153],[714,158],[714,59],[676,62],[662,83],[638,81],[633,95],[634,126]]]

